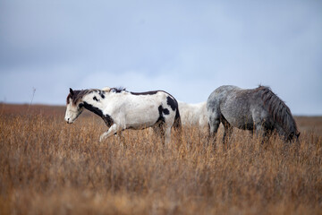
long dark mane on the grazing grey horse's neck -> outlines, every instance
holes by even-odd
[[[259,85],[256,91],[260,92],[264,106],[267,107],[268,113],[289,133],[297,133],[297,125],[289,107],[280,99],[269,87]]]

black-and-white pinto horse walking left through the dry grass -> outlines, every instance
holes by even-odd
[[[64,117],[67,124],[72,124],[84,108],[100,116],[108,127],[99,142],[125,129],[152,127],[167,144],[171,141],[171,128],[181,129],[178,102],[163,90],[131,92],[109,87],[102,90],[70,88]]]

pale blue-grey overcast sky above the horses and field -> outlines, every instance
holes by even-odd
[[[197,103],[225,84],[322,115],[322,1],[0,0],[2,102],[123,86]]]

